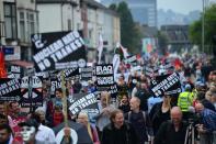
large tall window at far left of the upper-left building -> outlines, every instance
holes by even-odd
[[[5,38],[15,40],[18,36],[16,36],[14,3],[4,3],[4,21],[5,21]]]

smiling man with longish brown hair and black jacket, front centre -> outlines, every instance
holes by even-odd
[[[111,123],[103,129],[102,144],[138,144],[134,128],[124,121],[124,114],[116,109],[111,113]]]

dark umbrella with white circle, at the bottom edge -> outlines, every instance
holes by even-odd
[[[72,139],[72,144],[93,144],[87,129],[82,124],[76,123],[73,121],[68,121],[68,126],[71,129],[70,136]],[[62,140],[64,128],[65,123],[60,123],[53,129],[56,134],[57,144],[60,144]]]

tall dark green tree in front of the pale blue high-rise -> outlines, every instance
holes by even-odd
[[[110,5],[111,10],[116,10],[121,19],[121,43],[128,49],[129,53],[139,53],[141,43],[141,31],[140,26],[135,24],[132,13],[126,2],[120,2]]]

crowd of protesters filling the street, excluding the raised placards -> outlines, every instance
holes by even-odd
[[[167,58],[148,59],[160,67],[157,75],[169,71],[162,68]],[[175,64],[174,64],[175,63]],[[182,92],[179,96],[155,97],[151,78],[145,71],[129,71],[121,64],[116,79],[117,95],[102,91],[98,98],[100,113],[90,117],[86,111],[68,114],[68,120],[80,123],[94,144],[184,144],[189,120],[195,128],[196,144],[216,144],[216,70],[207,58],[185,56],[175,60],[174,70],[181,75]],[[144,67],[147,64],[141,64]],[[171,73],[173,73],[171,71]],[[125,76],[125,74],[128,74]],[[64,123],[64,92],[44,82],[43,107],[31,112],[19,102],[0,103],[0,144],[55,144],[54,128]],[[66,97],[96,91],[93,80],[83,86],[75,80],[67,85]],[[70,128],[65,128],[60,143],[72,143]],[[65,139],[65,140],[64,140]]]

